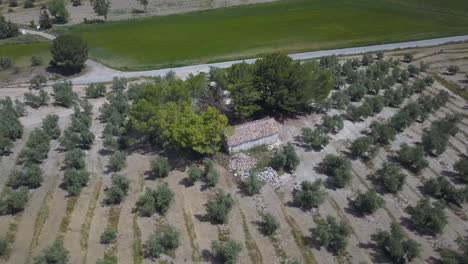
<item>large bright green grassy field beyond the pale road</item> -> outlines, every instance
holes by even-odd
[[[67,30],[88,41],[91,58],[146,70],[467,34],[465,10],[463,0],[285,0]]]

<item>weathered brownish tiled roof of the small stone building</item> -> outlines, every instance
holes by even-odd
[[[229,147],[273,136],[280,131],[280,124],[273,118],[260,119],[234,127],[234,133],[226,136]]]

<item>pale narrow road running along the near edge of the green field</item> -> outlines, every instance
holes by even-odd
[[[39,35],[50,40],[55,39],[55,36],[45,33],[45,32],[38,32],[38,31],[33,31],[33,30],[28,30],[28,29],[25,29],[24,32],[26,34]],[[409,41],[409,42],[401,42],[401,43],[371,45],[371,46],[364,46],[364,47],[294,53],[294,54],[289,54],[289,56],[294,60],[307,60],[307,59],[315,59],[315,58],[319,58],[323,56],[329,56],[333,54],[353,55],[353,54],[361,54],[361,53],[366,53],[366,52],[388,51],[388,50],[395,50],[395,49],[407,49],[407,48],[418,48],[418,47],[430,47],[430,46],[447,44],[451,42],[462,42],[462,41],[468,41],[468,35]],[[247,60],[235,60],[235,61],[226,61],[226,62],[219,62],[219,63],[200,64],[200,65],[192,65],[192,66],[184,66],[184,67],[176,67],[176,68],[167,68],[167,69],[160,69],[160,70],[122,72],[118,70],[113,70],[96,61],[88,60],[86,62],[86,66],[88,68],[87,72],[79,77],[72,78],[71,81],[73,82],[73,84],[90,84],[90,83],[98,83],[98,82],[110,82],[112,81],[114,77],[120,77],[120,78],[155,77],[155,76],[164,76],[170,71],[175,72],[175,74],[180,77],[185,77],[190,73],[196,74],[200,72],[208,72],[211,67],[227,68],[236,63],[240,63],[240,62],[254,63],[255,61],[256,61],[256,58],[247,59]]]

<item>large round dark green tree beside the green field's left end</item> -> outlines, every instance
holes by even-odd
[[[68,72],[79,72],[88,59],[86,42],[78,36],[69,34],[59,35],[54,39],[50,52],[52,53],[50,64]]]

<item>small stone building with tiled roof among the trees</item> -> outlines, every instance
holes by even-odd
[[[234,127],[225,136],[225,147],[229,153],[247,150],[259,145],[278,143],[281,125],[273,118],[265,118]]]

